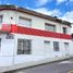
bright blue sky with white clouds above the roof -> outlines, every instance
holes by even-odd
[[[73,0],[0,0],[0,4],[15,4],[73,23]]]

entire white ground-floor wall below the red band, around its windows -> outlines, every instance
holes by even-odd
[[[66,50],[64,49],[64,42],[69,42],[69,56],[73,54],[73,49],[71,46],[71,40],[66,39],[58,39],[51,37],[39,37],[39,36],[31,36],[31,35],[21,35],[14,34],[14,39],[5,39],[4,36],[0,36],[2,38],[1,42],[1,51],[0,51],[0,66],[13,65],[24,62],[31,61],[40,61],[45,59],[56,59],[56,58],[65,58]],[[32,40],[32,54],[17,54],[17,39],[31,39]],[[50,41],[50,52],[45,51],[44,41]],[[53,51],[53,41],[59,41],[60,50]]]

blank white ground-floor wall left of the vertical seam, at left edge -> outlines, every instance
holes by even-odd
[[[5,37],[7,34],[0,34],[0,66],[8,66],[13,62],[14,39],[7,39]]]

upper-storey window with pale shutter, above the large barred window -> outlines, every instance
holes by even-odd
[[[19,17],[19,24],[26,27],[31,27],[32,21],[31,19]]]

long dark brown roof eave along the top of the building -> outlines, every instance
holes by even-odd
[[[50,21],[53,21],[56,23],[61,23],[61,24],[65,24],[65,25],[71,26],[70,22],[62,21],[62,20],[60,20],[58,17],[52,17],[52,16],[49,16],[49,15],[45,15],[45,14],[28,10],[28,9],[19,8],[19,7],[13,5],[13,4],[2,4],[2,5],[0,5],[0,10],[20,11],[20,12],[24,12],[24,13],[27,13],[27,14],[31,14],[31,15],[35,15],[35,16],[39,16],[39,17],[42,17],[42,19],[46,19],[46,20],[50,20]]]

